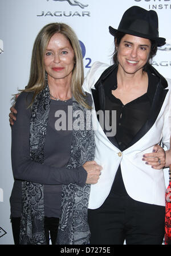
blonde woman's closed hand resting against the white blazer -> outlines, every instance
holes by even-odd
[[[83,165],[87,171],[86,184],[96,184],[101,174],[102,167],[97,165],[95,161],[88,161]]]

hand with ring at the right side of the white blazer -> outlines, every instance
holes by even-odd
[[[142,160],[146,165],[151,165],[153,169],[160,170],[166,164],[165,150],[160,145],[155,145],[153,153],[144,154]]]

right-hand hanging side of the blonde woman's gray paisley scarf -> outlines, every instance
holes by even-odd
[[[89,119],[86,111],[73,101],[73,112],[83,114],[80,122],[84,124],[83,130],[72,131],[73,141],[71,146],[71,156],[68,162],[68,168],[82,166],[86,161],[92,161],[95,155],[95,141],[91,123],[87,124]],[[79,118],[81,118],[79,116]],[[86,119],[87,117],[87,119]],[[74,118],[76,122],[76,118]],[[77,123],[77,122],[76,122]],[[89,227],[87,222],[88,200],[90,185],[80,187],[76,184],[63,185],[61,218],[59,221],[59,230],[57,242],[59,245],[83,245],[89,242]]]

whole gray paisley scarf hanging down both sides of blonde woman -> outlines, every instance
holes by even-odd
[[[81,129],[72,130],[72,145],[67,168],[82,166],[86,161],[93,161],[95,155],[95,139],[91,118],[86,122],[86,109],[73,98],[73,113],[81,111],[79,116],[73,115],[74,123],[80,122]],[[48,85],[36,96],[32,105],[30,119],[30,157],[32,161],[42,163],[44,160],[44,143],[48,114],[50,111],[50,94]],[[78,120],[79,118],[79,120]],[[44,235],[44,185],[22,182],[22,217],[20,244],[46,244]],[[59,220],[58,245],[84,245],[89,242],[89,226],[87,211],[90,185],[80,187],[76,184],[63,185],[61,215]]]

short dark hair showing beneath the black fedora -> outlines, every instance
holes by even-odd
[[[121,39],[124,37],[126,33],[117,31],[116,36],[115,36],[115,51],[113,53],[113,62],[118,64],[118,60],[117,60],[117,50],[116,50],[116,46],[119,46]],[[150,40],[150,39],[149,39]],[[156,42],[153,40],[150,40],[151,42],[151,49],[150,49],[150,53],[149,53],[149,58],[148,61],[146,62],[145,66],[143,67],[143,70],[146,69],[146,66],[148,63],[150,63],[153,59],[153,57],[156,55],[157,53],[157,45]]]

